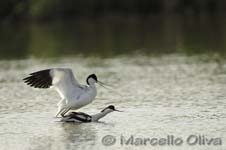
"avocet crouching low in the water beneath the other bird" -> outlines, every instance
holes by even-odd
[[[87,122],[97,122],[107,114],[113,112],[113,111],[119,111],[115,109],[115,106],[110,105],[101,112],[94,114],[94,115],[88,115],[83,112],[70,112],[68,115],[63,116],[61,119],[62,122],[76,122],[76,123],[87,123]],[[119,111],[122,112],[122,111]]]

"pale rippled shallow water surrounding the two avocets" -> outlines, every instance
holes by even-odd
[[[54,118],[60,100],[53,89],[33,89],[21,81],[49,67],[70,67],[81,83],[90,73],[113,86],[98,88],[93,114],[109,104],[113,112],[101,123],[69,124]],[[202,56],[71,57],[0,61],[0,149],[226,149],[226,63]],[[220,138],[220,146],[186,143],[190,135]],[[102,138],[116,142],[105,146]],[[180,138],[180,146],[126,145],[122,139]],[[111,139],[106,140],[111,142]],[[108,143],[107,143],[108,144]],[[110,143],[111,144],[111,143]]]

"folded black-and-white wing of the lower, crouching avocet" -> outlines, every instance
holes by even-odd
[[[71,112],[61,119],[62,122],[91,122],[92,117],[83,112]]]

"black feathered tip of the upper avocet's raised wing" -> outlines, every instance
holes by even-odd
[[[52,86],[52,76],[50,69],[41,70],[29,74],[30,76],[24,78],[24,82],[34,88],[49,88]]]

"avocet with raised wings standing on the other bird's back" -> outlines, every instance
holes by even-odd
[[[103,86],[95,74],[87,77],[87,85],[81,85],[75,79],[72,70],[67,68],[41,70],[31,73],[23,80],[34,88],[54,87],[56,89],[62,98],[57,104],[56,117],[59,114],[64,116],[69,110],[76,110],[91,103],[97,94],[95,83]]]

